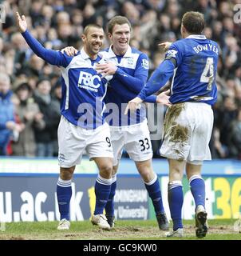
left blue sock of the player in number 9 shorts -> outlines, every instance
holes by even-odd
[[[57,180],[57,203],[61,214],[60,219],[69,220],[69,202],[72,196],[71,179],[64,181],[61,178]]]

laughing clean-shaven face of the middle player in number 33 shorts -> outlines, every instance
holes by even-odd
[[[115,54],[125,54],[128,50],[128,43],[131,37],[131,30],[127,23],[113,26],[113,33],[109,33],[109,39],[113,44]]]

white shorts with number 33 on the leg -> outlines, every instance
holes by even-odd
[[[152,158],[152,143],[147,120],[132,126],[110,126],[113,166],[117,166],[123,149],[135,162]]]

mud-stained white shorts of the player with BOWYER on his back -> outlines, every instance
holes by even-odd
[[[202,102],[177,103],[164,119],[160,154],[165,158],[201,162],[211,160],[208,143],[213,126],[211,106]]]

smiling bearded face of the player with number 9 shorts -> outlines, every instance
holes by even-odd
[[[90,57],[94,57],[101,50],[104,41],[104,30],[90,27],[87,34],[82,35],[84,49]]]

